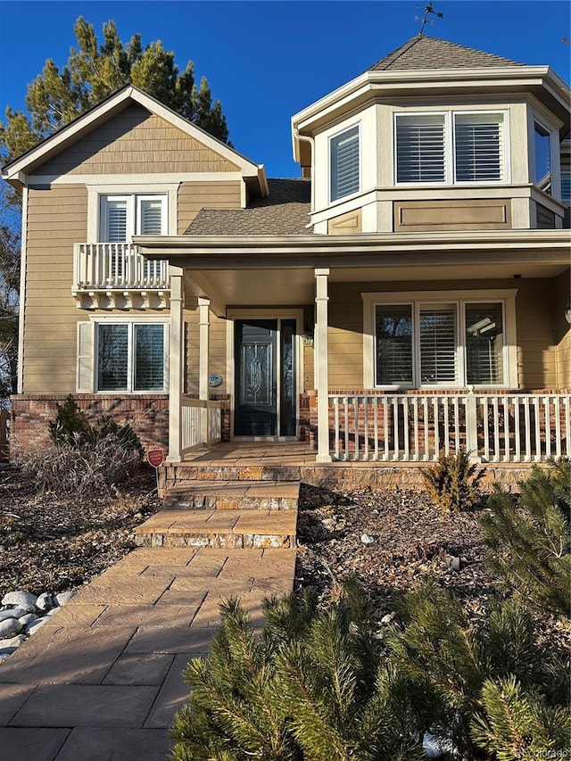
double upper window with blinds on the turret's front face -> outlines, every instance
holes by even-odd
[[[397,183],[501,182],[503,113],[395,114]]]

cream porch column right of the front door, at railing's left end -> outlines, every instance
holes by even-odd
[[[327,345],[327,281],[329,269],[316,269],[315,387],[318,393],[317,462],[331,462],[329,453],[329,368]]]

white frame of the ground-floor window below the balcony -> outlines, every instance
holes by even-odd
[[[169,319],[168,318],[93,318],[94,339],[93,339],[93,388],[94,393],[113,393],[144,395],[155,393],[168,393],[169,391]],[[99,388],[99,336],[101,326],[127,325],[128,326],[128,347],[127,347],[127,389],[100,389]],[[148,325],[162,326],[162,388],[153,389],[136,389],[136,361],[135,361],[135,332],[136,327]]]

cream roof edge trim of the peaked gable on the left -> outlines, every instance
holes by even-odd
[[[106,97],[101,103],[97,103],[89,111],[82,113],[69,124],[66,124],[54,135],[46,137],[29,151],[7,163],[2,169],[2,177],[11,185],[22,187],[25,185],[25,175],[37,169],[42,163],[61,153],[69,145],[78,141],[81,137],[93,131],[99,125],[112,118],[128,107],[129,103],[138,103],[148,112],[169,122],[173,127],[180,129],[186,135],[192,136],[203,145],[207,145],[216,153],[219,153],[228,161],[232,161],[239,168],[244,179],[253,179],[259,186],[262,194],[267,193],[267,179],[262,164],[256,164],[247,159],[235,148],[222,143],[217,137],[212,136],[204,129],[197,127],[191,121],[186,120],[179,113],[161,103],[152,95],[147,95],[134,85],[121,87],[117,92]]]

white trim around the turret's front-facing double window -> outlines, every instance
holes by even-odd
[[[413,116],[426,117],[438,116],[443,117],[444,121],[444,180],[443,182],[399,182],[398,161],[397,161],[397,121],[399,117]],[[460,180],[456,181],[456,161],[455,161],[455,124],[457,116],[494,116],[498,117],[502,131],[501,145],[501,179],[499,180]],[[500,186],[509,185],[511,181],[510,172],[510,141],[509,141],[509,110],[494,109],[486,111],[399,111],[393,112],[393,167],[394,167],[394,185],[399,187],[427,187],[427,186]]]

